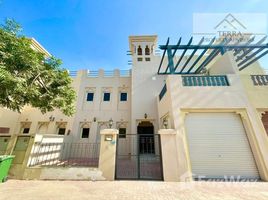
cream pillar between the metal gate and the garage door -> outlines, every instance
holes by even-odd
[[[176,130],[160,129],[164,181],[180,181]]]

